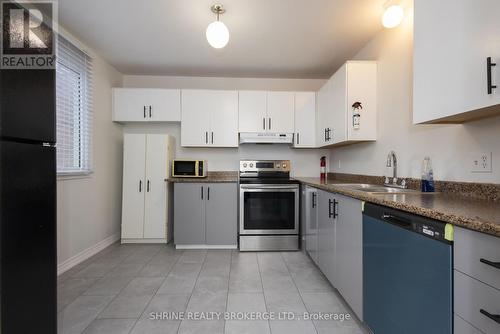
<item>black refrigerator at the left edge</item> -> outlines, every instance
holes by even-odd
[[[55,70],[0,71],[2,334],[57,333]]]

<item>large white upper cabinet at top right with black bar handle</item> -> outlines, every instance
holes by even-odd
[[[414,8],[413,122],[500,115],[500,1],[419,0]],[[488,57],[497,64],[490,79]]]

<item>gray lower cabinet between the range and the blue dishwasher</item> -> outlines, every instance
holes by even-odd
[[[306,251],[317,258],[326,278],[363,319],[362,202],[313,189],[305,192]]]

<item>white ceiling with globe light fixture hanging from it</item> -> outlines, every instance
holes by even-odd
[[[63,27],[125,74],[326,78],[382,29],[385,0],[59,0]]]

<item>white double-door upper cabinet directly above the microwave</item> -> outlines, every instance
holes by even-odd
[[[181,146],[238,147],[238,92],[183,90]]]

